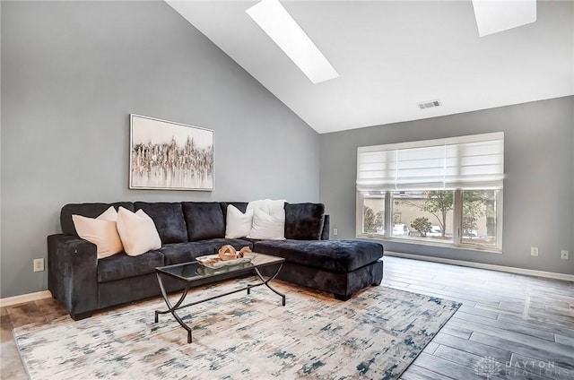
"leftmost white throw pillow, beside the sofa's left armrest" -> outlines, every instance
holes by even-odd
[[[96,219],[72,215],[72,220],[78,236],[96,245],[99,259],[116,255],[124,250],[117,233],[117,212],[114,206],[110,206]]]

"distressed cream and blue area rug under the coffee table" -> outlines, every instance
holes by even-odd
[[[243,279],[239,282],[246,282]],[[346,302],[276,281],[179,312],[193,342],[162,298],[74,322],[14,329],[30,379],[396,379],[457,308],[457,302],[370,287]],[[195,289],[204,298],[237,281]]]

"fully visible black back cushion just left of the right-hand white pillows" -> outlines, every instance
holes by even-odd
[[[225,222],[219,203],[184,202],[182,204],[189,241],[225,237]]]

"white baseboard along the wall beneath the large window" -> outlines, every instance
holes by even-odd
[[[515,268],[513,266],[494,265],[491,263],[474,263],[474,262],[468,262],[468,261],[463,261],[463,260],[445,259],[442,257],[403,254],[400,252],[387,252],[387,251],[385,251],[385,255],[386,256],[403,257],[405,259],[430,261],[433,263],[450,263],[450,264],[454,264],[454,265],[469,266],[471,268],[479,268],[479,269],[488,269],[491,271],[498,271],[498,272],[525,274],[526,276],[544,277],[546,279],[554,279],[554,280],[562,280],[562,281],[574,281],[574,275],[565,274],[565,273],[535,271],[534,269]]]

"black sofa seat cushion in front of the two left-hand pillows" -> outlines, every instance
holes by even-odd
[[[98,260],[98,282],[116,281],[128,277],[155,272],[156,266],[163,266],[160,251],[149,251],[143,255],[128,256],[124,253]]]

